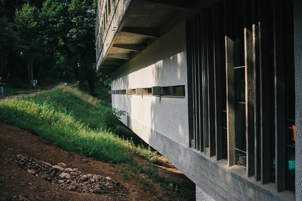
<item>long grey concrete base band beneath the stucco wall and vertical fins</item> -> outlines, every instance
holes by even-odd
[[[204,153],[184,147],[159,132],[150,130],[146,125],[141,125],[135,119],[129,118],[128,123],[135,125],[131,129],[137,134],[140,131],[150,132],[150,138],[156,139],[149,141],[150,146],[157,149],[200,188],[196,190],[196,201],[204,201],[205,198],[217,201],[295,200],[293,193],[287,190],[277,193],[273,183],[262,185],[254,177],[247,178],[245,169],[236,165],[228,167],[224,159],[216,161],[215,157],[208,157]]]

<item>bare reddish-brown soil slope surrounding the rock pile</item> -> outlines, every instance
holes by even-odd
[[[156,194],[152,194],[146,186],[143,186],[142,181],[135,178],[126,180],[124,174],[120,173],[119,165],[103,163],[79,155],[70,156],[55,145],[47,144],[38,136],[14,126],[0,124],[0,128],[0,200],[177,200],[165,197],[165,192],[162,192],[158,184],[154,184]],[[119,182],[123,193],[78,193],[63,189],[23,170],[16,160],[18,154],[34,157],[53,165],[64,163],[67,167],[78,168],[84,173],[110,177],[111,180]],[[192,191],[195,190],[194,183],[165,158],[159,158],[157,168],[161,175],[185,181],[188,186],[191,186]],[[126,173],[127,170],[123,172]],[[156,198],[158,194],[161,194],[160,199]]]

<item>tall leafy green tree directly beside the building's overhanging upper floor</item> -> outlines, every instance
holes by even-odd
[[[93,93],[95,73],[95,5],[97,0],[46,0],[42,16],[48,47],[59,58],[77,61],[79,86],[88,80]],[[74,60],[75,58],[76,60]]]

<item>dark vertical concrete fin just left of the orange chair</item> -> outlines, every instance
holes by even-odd
[[[285,154],[285,44],[284,44],[284,4],[273,3],[274,31],[274,70],[275,70],[275,190],[280,192],[286,187]],[[288,165],[288,164],[287,164]]]

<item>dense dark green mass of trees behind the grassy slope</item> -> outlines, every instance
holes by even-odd
[[[76,79],[96,95],[107,74],[95,72],[97,0],[0,0],[0,76],[21,86]],[[19,86],[20,87],[20,86]],[[108,87],[108,85],[107,85]]]

